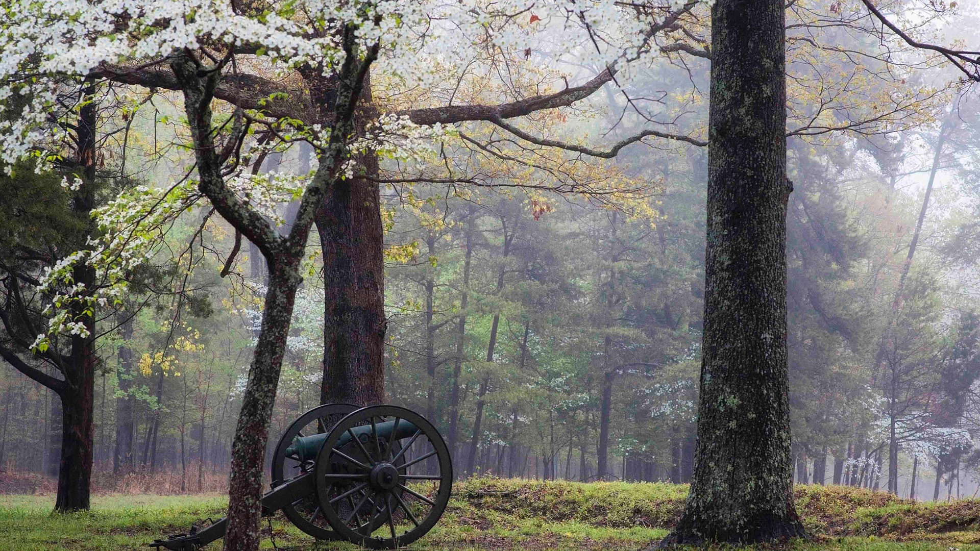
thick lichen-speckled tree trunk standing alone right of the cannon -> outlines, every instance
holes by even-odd
[[[786,364],[784,3],[711,8],[708,239],[698,442],[665,543],[804,536]]]

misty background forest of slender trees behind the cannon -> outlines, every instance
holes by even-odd
[[[938,12],[882,4],[892,14],[907,5],[908,21],[945,42],[980,22],[952,2]],[[522,25],[547,23],[529,14]],[[626,92],[607,83],[518,122],[390,129],[411,154],[382,151],[369,177],[354,178],[378,189],[379,205],[355,193],[349,241],[321,211],[304,249],[268,450],[343,388],[431,420],[458,478],[689,481],[705,328],[708,14],[692,5],[662,29],[656,56],[623,73]],[[795,480],[920,500],[977,495],[980,102],[940,56],[884,34],[859,3],[799,0],[786,17]],[[562,90],[602,71],[553,55],[561,32],[544,34],[540,49],[480,52],[424,85],[379,71],[368,86],[385,112],[408,113]],[[11,362],[33,361],[38,346],[68,350],[84,332],[47,331],[61,306],[49,307],[41,278],[98,241],[106,255],[142,258],[92,269],[107,289],[87,306],[94,485],[223,490],[270,265],[182,187],[196,161],[182,145],[180,92],[131,84],[93,87],[97,134],[63,144],[67,158],[88,143],[97,159],[87,210],[73,203],[81,180],[64,171],[0,175],[0,472],[58,476],[63,406],[42,383],[55,365],[41,357],[25,376]],[[225,107],[216,119],[238,125]],[[651,126],[660,133],[630,137]],[[318,160],[288,128],[269,128],[237,145],[236,177],[286,235]],[[94,229],[81,222],[93,213]],[[383,237],[360,232],[359,217]],[[383,246],[383,268],[341,274],[341,242],[356,267]],[[362,315],[367,275],[383,278],[383,317]],[[331,379],[344,347],[379,354],[383,381],[352,390]],[[365,362],[352,369],[369,371]]]

